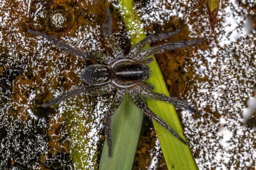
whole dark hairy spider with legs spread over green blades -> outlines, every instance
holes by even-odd
[[[80,73],[80,79],[85,82],[85,86],[76,88],[74,90],[68,91],[65,94],[59,95],[55,99],[42,104],[42,107],[49,107],[58,102],[64,101],[81,93],[86,95],[104,95],[112,91],[116,92],[115,97],[110,104],[110,107],[105,116],[104,130],[106,139],[109,146],[109,156],[111,156],[111,147],[112,147],[112,137],[111,137],[111,117],[119,107],[124,98],[125,93],[130,93],[132,101],[144,111],[144,113],[161,124],[164,128],[169,130],[175,137],[180,139],[184,144],[187,144],[184,139],[182,139],[177,132],[175,132],[166,122],[152,110],[148,108],[148,105],[143,102],[139,94],[144,97],[148,97],[155,100],[160,100],[168,102],[177,107],[182,107],[186,110],[190,110],[193,113],[200,114],[198,110],[191,107],[186,102],[177,99],[175,97],[167,97],[164,94],[153,92],[154,86],[146,84],[143,81],[147,80],[150,77],[150,69],[147,66],[150,62],[153,62],[153,58],[149,57],[157,53],[163,53],[166,50],[175,50],[183,48],[189,45],[195,45],[196,43],[204,41],[204,38],[197,40],[190,40],[186,42],[171,42],[162,45],[153,46],[149,49],[143,51],[143,48],[146,44],[150,44],[158,40],[166,40],[180,32],[180,29],[175,31],[170,31],[166,33],[160,33],[155,35],[149,35],[148,37],[141,40],[137,43],[128,53],[124,55],[124,52],[121,50],[117,40],[112,35],[112,21],[110,10],[107,9],[107,19],[103,26],[103,34],[108,41],[114,56],[106,55],[101,52],[91,51],[91,52],[82,52],[78,49],[74,49],[68,44],[60,41],[59,39],[54,38],[51,35],[46,33],[41,33],[39,31],[34,31],[28,29],[29,33],[33,33],[38,36],[42,36],[47,40],[56,44],[56,46],[78,58],[84,60],[94,59],[98,60],[103,64],[93,64],[83,69]]]

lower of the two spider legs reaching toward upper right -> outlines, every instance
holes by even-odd
[[[197,39],[197,40],[190,40],[190,41],[185,41],[185,42],[171,42],[167,44],[162,44],[162,45],[157,45],[153,46],[149,49],[146,49],[140,53],[142,58],[146,58],[150,55],[158,54],[158,53],[164,53],[164,51],[168,50],[175,50],[175,49],[180,49],[184,48],[186,46],[190,45],[195,45],[199,42],[203,42],[205,38]]]

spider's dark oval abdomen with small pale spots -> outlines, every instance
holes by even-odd
[[[101,86],[110,82],[111,71],[109,66],[94,64],[86,67],[80,74],[80,78],[92,86]]]

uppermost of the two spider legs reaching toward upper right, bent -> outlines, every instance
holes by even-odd
[[[160,34],[154,34],[154,35],[148,35],[146,38],[138,42],[130,51],[128,55],[132,55],[137,57],[139,53],[143,50],[143,48],[152,42],[159,41],[159,40],[166,40],[167,38],[170,38],[171,36],[177,34],[180,32],[180,29],[176,29],[175,31],[170,31],[166,33],[160,33]]]

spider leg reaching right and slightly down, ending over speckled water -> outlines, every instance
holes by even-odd
[[[144,86],[144,85],[142,85],[142,86]],[[184,102],[180,99],[176,99],[175,97],[167,97],[164,94],[153,92],[146,86],[144,86],[144,88],[142,88],[142,90],[139,91],[139,93],[141,93],[145,97],[155,99],[155,100],[164,101],[164,102],[168,102],[168,103],[173,104],[175,107],[181,107],[181,108],[189,110],[189,111],[191,111],[191,112],[193,112],[197,115],[200,115],[200,112],[198,110],[196,110],[195,108],[193,108],[192,106],[190,106],[186,102]]]

